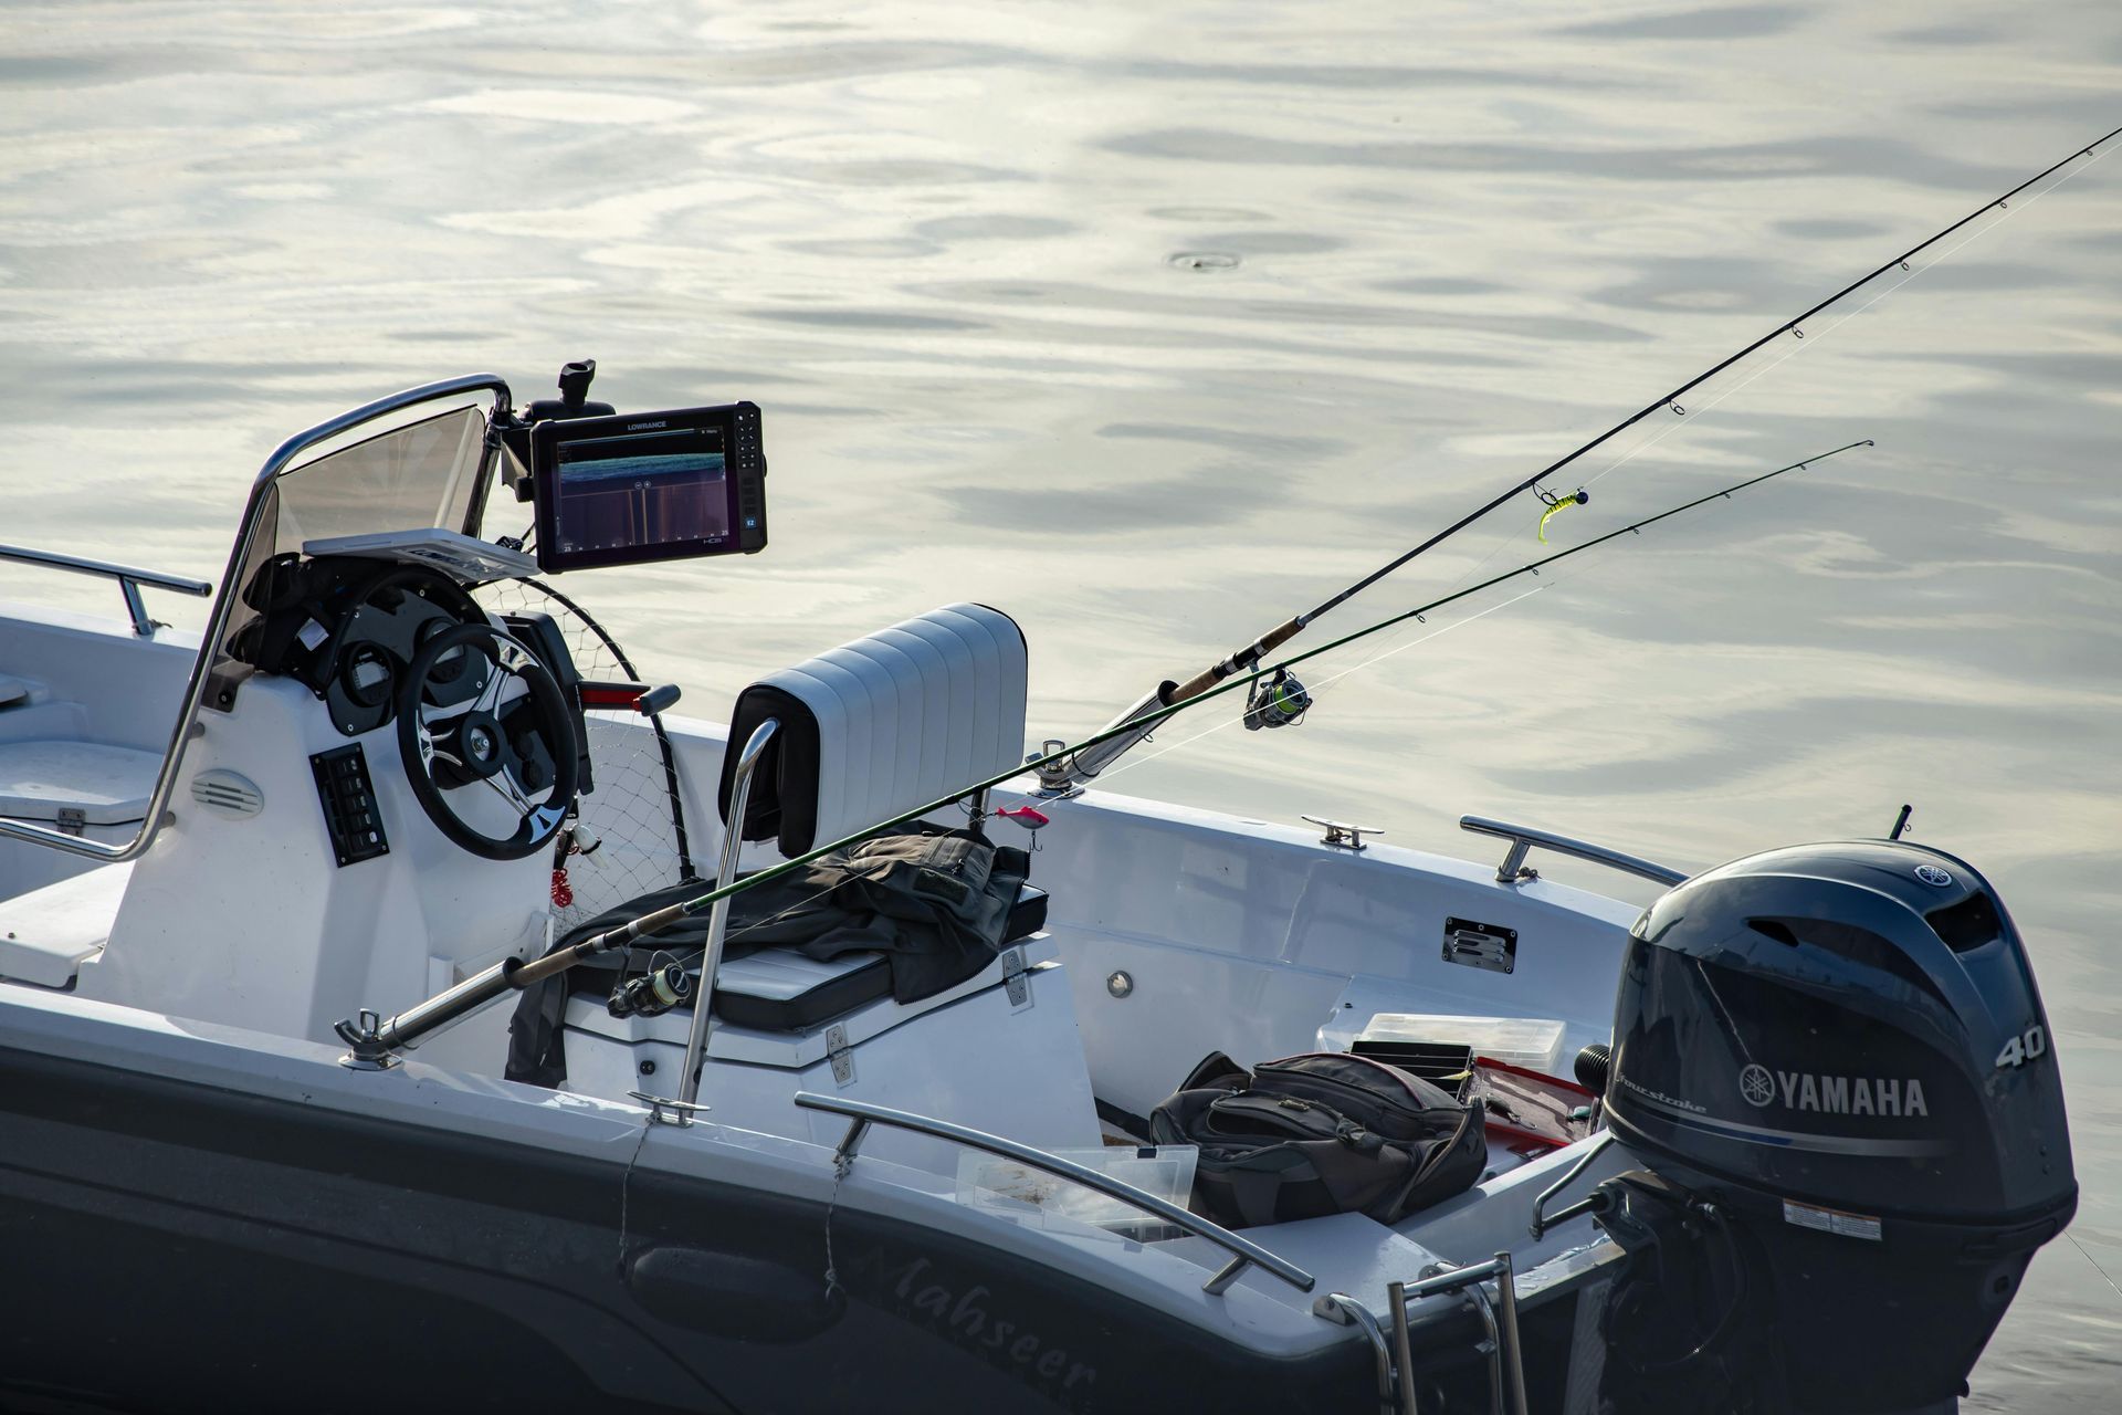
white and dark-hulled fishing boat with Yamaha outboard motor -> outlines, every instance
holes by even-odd
[[[764,549],[762,414],[592,373],[297,433],[219,586],[0,549],[125,607],[0,615],[11,1407],[1956,1409],[2075,1207],[1976,866],[1095,785],[1371,581],[1029,755],[982,602],[683,717],[577,583]]]

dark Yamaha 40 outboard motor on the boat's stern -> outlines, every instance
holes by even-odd
[[[1653,904],[1606,1122],[1674,1190],[1604,1186],[1608,1235],[1655,1256],[1608,1305],[1619,1409],[1721,1385],[1751,1394],[1719,1409],[1950,1411],[2077,1205],[2018,931],[1910,842],[1770,851]]]

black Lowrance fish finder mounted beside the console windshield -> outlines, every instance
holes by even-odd
[[[547,573],[766,547],[755,403],[533,422],[530,479]]]

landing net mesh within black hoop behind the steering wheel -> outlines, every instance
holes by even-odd
[[[605,626],[552,586],[503,579],[480,588],[477,598],[499,615],[552,615],[584,679],[643,681]],[[581,717],[596,789],[577,798],[577,838],[594,846],[554,861],[554,938],[615,904],[694,878],[662,723],[632,709],[590,709]],[[567,832],[560,840],[569,840]]]

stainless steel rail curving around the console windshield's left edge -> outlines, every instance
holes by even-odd
[[[68,855],[87,855],[89,859],[106,863],[144,855],[146,846],[155,842],[155,834],[161,829],[163,815],[170,808],[170,796],[176,791],[176,774],[185,764],[185,747],[191,743],[193,728],[199,721],[206,681],[212,675],[221,641],[229,632],[229,619],[236,615],[236,605],[242,600],[242,586],[238,581],[242,579],[244,564],[250,560],[250,547],[257,541],[259,522],[263,520],[265,494],[272,490],[274,479],[278,479],[278,475],[286,471],[297,456],[316,443],[329,441],[340,433],[361,426],[363,422],[373,422],[376,418],[384,418],[405,407],[416,407],[418,403],[427,403],[431,399],[486,390],[492,390],[497,412],[505,412],[509,407],[509,386],[499,373],[465,373],[463,378],[420,384],[418,388],[405,388],[403,392],[393,392],[390,397],[376,399],[373,403],[363,403],[361,407],[348,409],[337,418],[318,422],[306,433],[295,433],[274,448],[272,456],[265,458],[265,465],[259,467],[259,475],[250,482],[250,496],[244,501],[244,518],[236,528],[236,545],[229,549],[229,569],[221,575],[221,594],[214,596],[214,607],[206,617],[206,634],[199,639],[199,658],[191,664],[191,679],[185,683],[185,706],[178,711],[176,726],[170,730],[170,745],[163,749],[161,772],[157,772],[155,789],[146,798],[146,815],[140,821],[138,834],[123,844],[106,844],[102,840],[89,840],[87,836],[68,836],[66,832],[49,825],[0,819],[0,838],[28,840],[30,844],[66,851]]]

